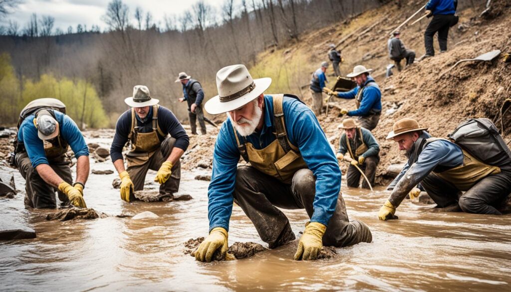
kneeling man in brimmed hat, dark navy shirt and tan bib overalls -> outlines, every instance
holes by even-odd
[[[135,199],[133,191],[144,189],[148,169],[158,171],[154,181],[160,184],[159,199],[173,198],[181,179],[179,159],[190,143],[187,133],[172,111],[151,97],[147,86],[133,87],[133,96],[124,102],[131,108],[119,117],[110,147],[121,178],[121,198],[127,202]],[[122,150],[128,141],[131,150],[126,154],[126,169]]]

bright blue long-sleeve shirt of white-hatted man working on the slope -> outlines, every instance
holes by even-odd
[[[337,94],[337,97],[344,99],[354,99],[361,87],[364,87],[364,92],[362,93],[362,101],[360,102],[358,109],[348,111],[347,115],[350,117],[368,116],[371,109],[378,112],[382,110],[382,94],[380,92],[380,87],[378,87],[375,79],[373,79],[371,76],[367,76],[367,80],[364,82],[364,84],[362,84],[362,86],[357,86],[351,89],[349,92],[340,92]]]

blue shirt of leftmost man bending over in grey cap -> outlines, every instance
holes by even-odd
[[[69,144],[75,157],[89,155],[89,147],[83,139],[82,132],[75,124],[75,122],[60,111],[54,110],[55,118],[59,123],[60,137]],[[37,128],[34,125],[35,115],[30,115],[21,123],[18,130],[18,143],[23,143],[27,154],[29,155],[30,162],[35,168],[39,164],[50,164],[44,153],[44,144],[37,136]]]

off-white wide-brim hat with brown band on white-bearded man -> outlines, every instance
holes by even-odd
[[[211,115],[227,113],[254,100],[270,87],[271,78],[252,79],[245,65],[231,65],[217,72],[218,95],[204,104]]]

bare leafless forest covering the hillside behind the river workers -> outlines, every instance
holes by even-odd
[[[199,80],[206,98],[212,97],[222,66],[253,65],[265,49],[299,41],[305,31],[342,25],[343,19],[382,2],[389,1],[225,0],[215,10],[200,1],[182,15],[157,21],[143,8],[130,11],[122,0],[113,0],[102,16],[108,26],[104,32],[83,25],[63,32],[54,29],[51,15],[33,14],[25,25],[10,21],[0,28],[0,53],[10,55],[19,80],[50,74],[92,84],[110,125],[137,84],[149,86],[153,97],[183,119],[186,107],[177,102],[181,86],[174,83],[179,72]]]

